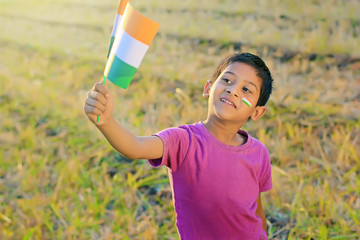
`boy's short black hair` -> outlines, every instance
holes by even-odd
[[[220,76],[220,74],[225,70],[225,68],[234,62],[245,63],[256,70],[257,76],[260,77],[262,80],[260,96],[256,106],[265,106],[272,92],[273,79],[271,77],[270,70],[265,65],[264,61],[254,54],[234,53],[226,57],[217,66],[216,70],[213,73],[211,81],[215,82],[216,79]]]

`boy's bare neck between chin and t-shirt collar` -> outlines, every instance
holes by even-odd
[[[203,124],[215,138],[227,145],[239,146],[245,142],[244,137],[238,134],[241,123],[220,122],[208,117]]]

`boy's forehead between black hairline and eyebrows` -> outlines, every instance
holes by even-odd
[[[256,69],[246,63],[233,62],[221,73],[221,75],[224,74],[233,75],[239,80],[251,81],[257,86],[261,86],[261,79],[257,75]]]

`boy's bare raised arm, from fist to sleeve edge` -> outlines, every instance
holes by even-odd
[[[96,83],[85,100],[84,111],[90,121],[102,132],[118,152],[130,159],[157,159],[162,157],[163,142],[156,136],[138,137],[120,126],[112,117],[114,97],[107,87]],[[97,122],[97,116],[100,121]]]

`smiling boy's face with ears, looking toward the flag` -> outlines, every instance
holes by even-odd
[[[261,82],[253,67],[241,62],[230,64],[215,82],[208,81],[205,85],[204,96],[209,97],[208,116],[242,124],[249,117],[259,119],[265,113],[265,107],[256,106]],[[251,103],[250,107],[243,98]]]

